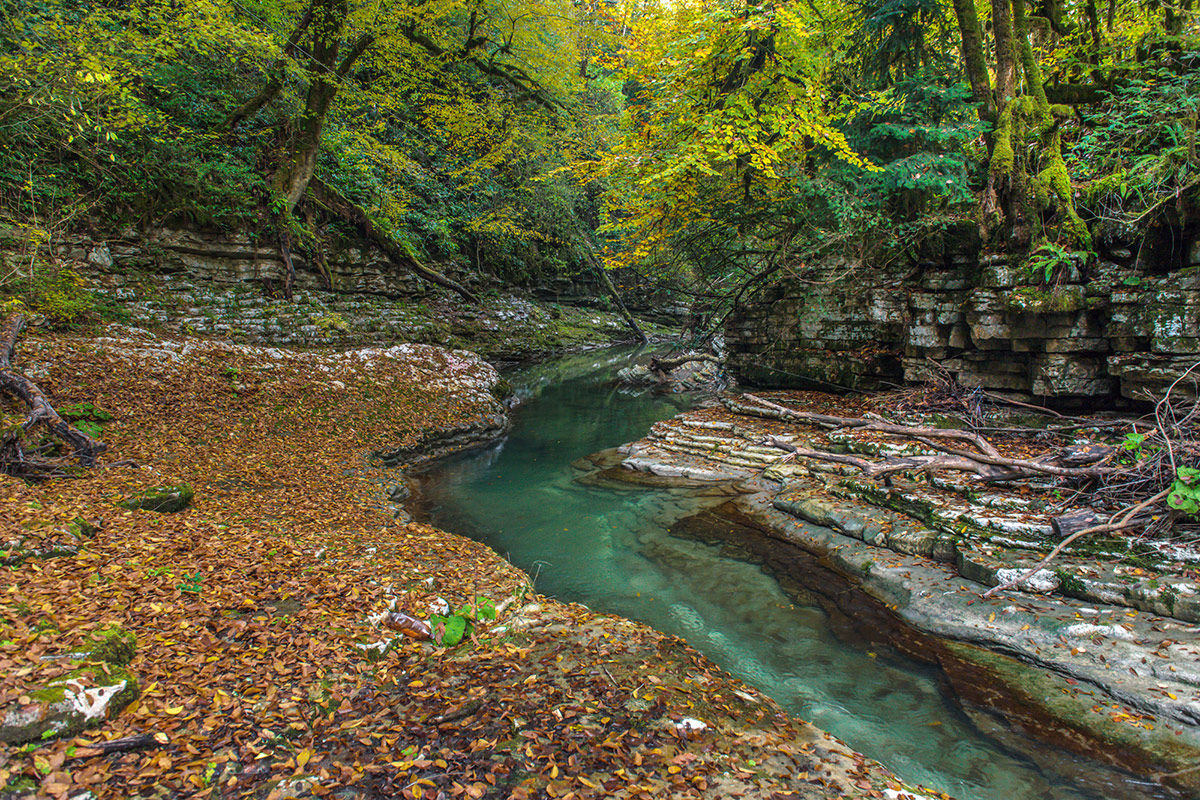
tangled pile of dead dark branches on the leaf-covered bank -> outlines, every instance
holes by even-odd
[[[48,455],[58,449],[53,439],[70,445],[79,465],[91,467],[107,445],[67,423],[38,385],[12,366],[17,339],[24,329],[25,318],[19,313],[0,321],[0,392],[26,409],[24,420],[0,429],[0,473],[30,480],[70,475],[71,457]],[[44,428],[52,438],[32,435],[37,428]]]

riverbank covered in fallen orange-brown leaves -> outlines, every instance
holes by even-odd
[[[901,796],[679,639],[536,597],[486,547],[396,518],[396,475],[365,453],[499,434],[478,357],[122,329],[20,354],[110,450],[77,480],[0,479],[0,716],[29,723],[59,679],[56,699],[109,718],[0,745],[4,796]],[[114,504],[162,487],[186,506]],[[481,597],[504,610],[456,648],[378,622]],[[80,672],[116,626],[136,651]]]

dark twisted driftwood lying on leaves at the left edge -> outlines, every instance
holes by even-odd
[[[48,470],[47,464],[26,456],[20,446],[22,437],[38,425],[46,426],[52,434],[71,445],[80,464],[92,467],[96,456],[108,445],[67,423],[38,385],[12,367],[17,339],[24,329],[25,318],[19,313],[8,314],[0,321],[0,391],[17,397],[29,408],[29,414],[20,425],[0,432],[0,471],[22,476],[53,471],[53,467]]]

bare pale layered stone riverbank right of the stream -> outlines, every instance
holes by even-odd
[[[769,398],[822,413],[876,410],[870,399],[812,392]],[[756,444],[768,434],[840,452],[888,446],[716,407],[598,456],[598,475],[736,488],[736,499],[709,512],[734,539],[767,537],[808,554],[823,572],[802,583],[823,595],[827,609],[938,666],[968,704],[1003,720],[1009,744],[1024,742],[1036,758],[1045,754],[1037,740],[1049,741],[1129,770],[1150,782],[1132,796],[1154,784],[1196,794],[1200,675],[1188,561],[1139,549],[1130,565],[1129,554],[1088,552],[1060,560],[1039,594],[985,600],[990,585],[1012,575],[1004,570],[1031,566],[1033,547],[1049,540],[1028,497],[902,477],[876,487],[840,467],[782,462],[778,450]]]

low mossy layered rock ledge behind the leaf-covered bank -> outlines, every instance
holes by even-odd
[[[2,242],[0,231],[0,263],[10,255]],[[481,297],[476,306],[352,239],[328,243],[319,259],[295,253],[290,300],[282,296],[287,267],[274,237],[125,230],[64,237],[54,255],[120,321],[246,344],[421,342],[516,360],[629,337],[582,281],[515,288],[474,265],[439,264],[443,275]],[[642,326],[652,336],[672,330],[646,320]]]

